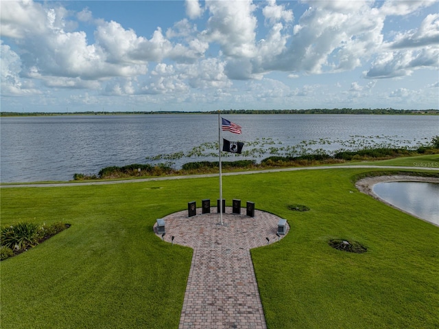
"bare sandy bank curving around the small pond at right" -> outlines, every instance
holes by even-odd
[[[406,212],[404,209],[401,209],[399,207],[396,207],[392,205],[391,203],[388,203],[387,201],[383,200],[377,194],[375,194],[372,190],[373,185],[377,183],[384,183],[384,182],[390,182],[390,181],[420,181],[420,182],[427,182],[427,183],[439,183],[439,178],[436,177],[418,177],[418,176],[410,176],[410,175],[385,175],[385,176],[377,176],[377,177],[366,177],[364,179],[360,179],[355,183],[355,187],[359,192],[368,194],[372,196],[373,198],[385,203],[386,205],[390,205],[390,207],[394,207],[395,209],[400,210],[401,212],[405,212],[405,214],[410,214],[411,216],[414,216],[416,218],[419,218],[421,220],[426,221],[427,223],[436,225],[435,223],[431,223],[429,220],[425,220],[424,218],[420,218],[416,216],[415,214],[412,214],[410,212]],[[436,225],[439,226],[439,225]]]

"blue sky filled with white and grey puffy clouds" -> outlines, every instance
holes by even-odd
[[[439,109],[439,1],[0,1],[1,111]]]

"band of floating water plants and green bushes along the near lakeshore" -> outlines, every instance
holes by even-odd
[[[427,139],[425,139],[427,140]],[[239,157],[238,161],[223,161],[222,167],[228,169],[252,169],[286,166],[316,166],[327,163],[345,161],[364,161],[392,159],[401,156],[437,154],[439,137],[433,141],[400,140],[398,136],[350,136],[348,140],[300,141],[294,145],[283,145],[272,138],[257,138],[244,141],[241,154],[222,152],[222,157]],[[75,174],[75,180],[83,179],[115,179],[123,177],[163,176],[167,174],[191,174],[196,172],[212,172],[218,167],[218,142],[204,142],[189,151],[159,154],[146,157],[146,164],[132,164],[123,167],[110,166],[103,168],[99,174]],[[263,158],[257,163],[258,158]],[[182,159],[195,159],[185,161]],[[164,161],[164,162],[162,162]],[[176,169],[179,161],[181,169]]]

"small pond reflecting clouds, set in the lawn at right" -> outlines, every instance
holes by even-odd
[[[392,181],[373,185],[384,201],[439,225],[439,183]]]

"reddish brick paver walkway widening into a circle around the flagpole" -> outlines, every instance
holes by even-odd
[[[180,329],[267,328],[250,249],[267,245],[266,238],[270,244],[278,241],[280,218],[259,210],[249,217],[246,208],[231,212],[226,207],[224,225],[216,207],[210,214],[201,214],[200,208],[197,216],[182,211],[163,218],[164,240],[174,236],[174,243],[193,248]]]

